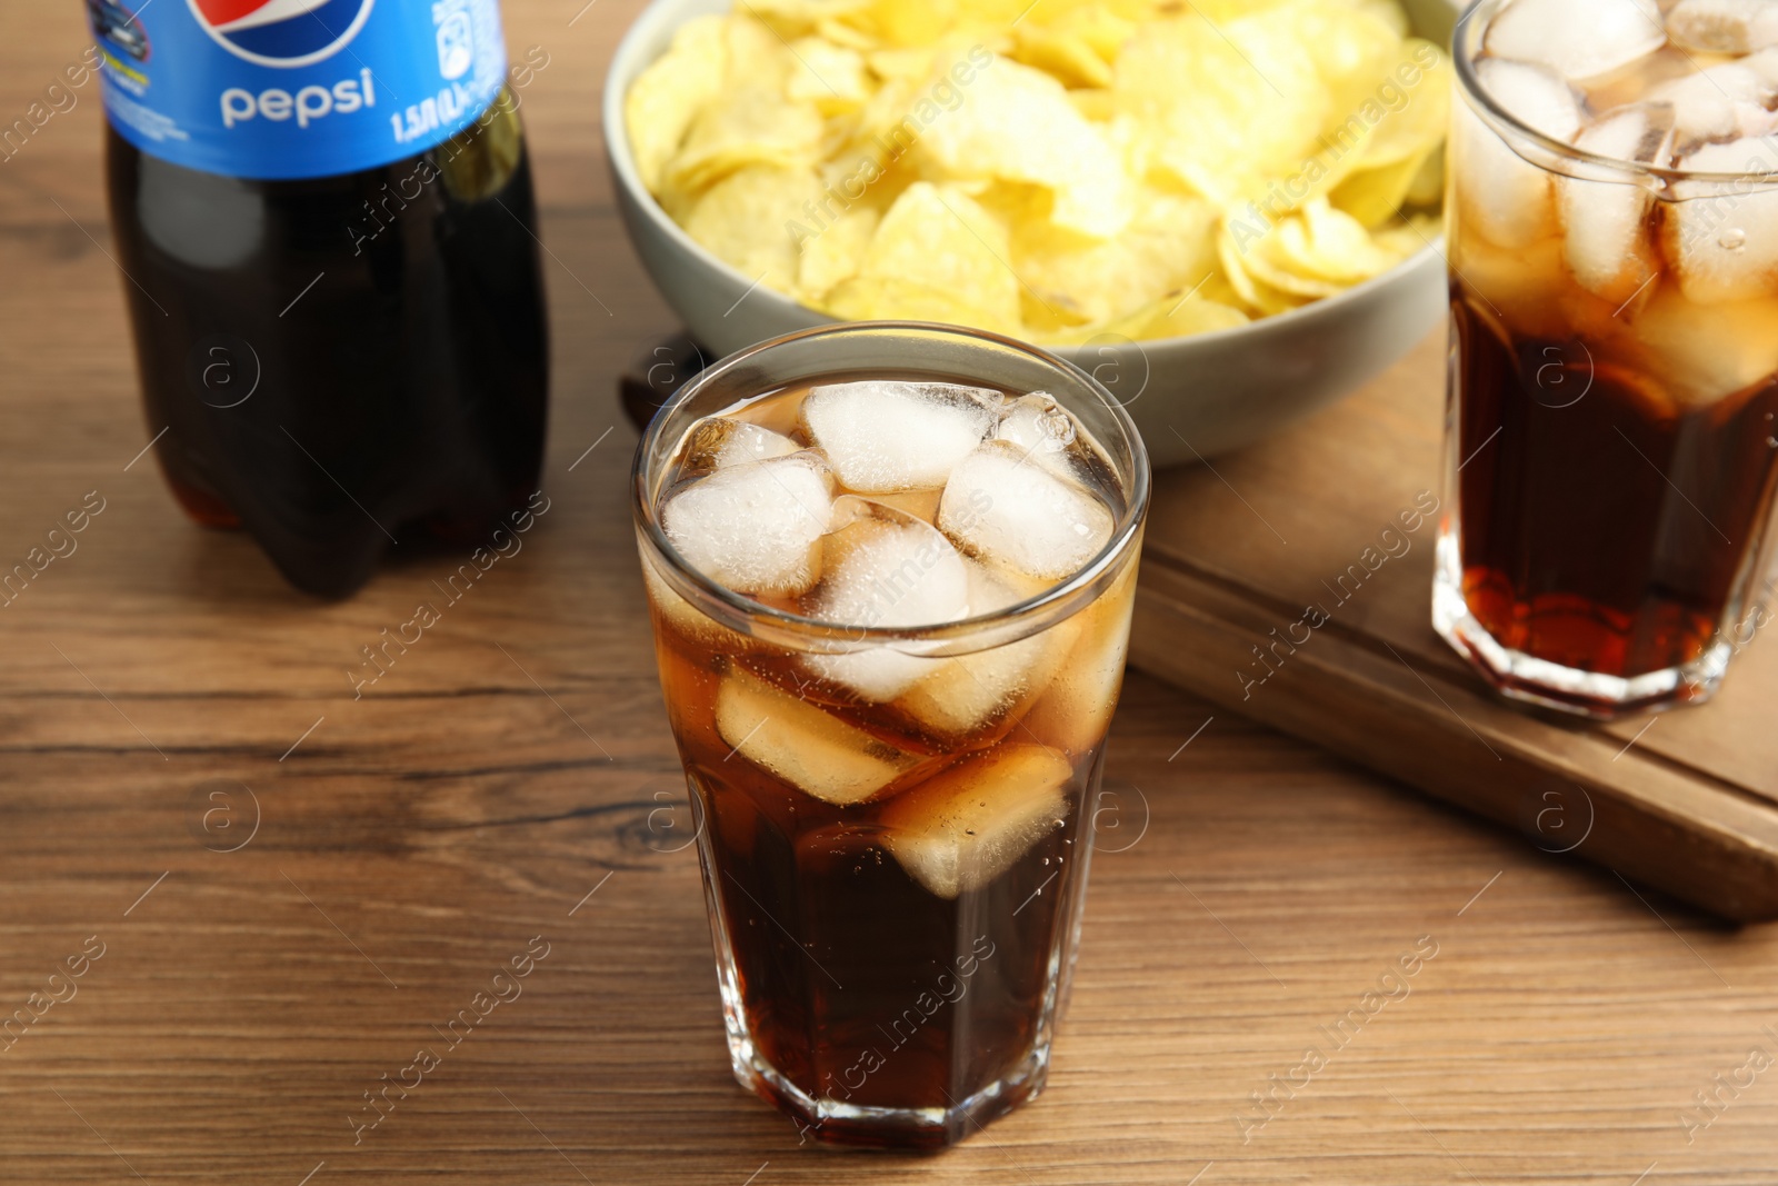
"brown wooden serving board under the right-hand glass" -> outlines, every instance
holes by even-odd
[[[1547,852],[1778,918],[1778,644],[1753,638],[1710,704],[1590,725],[1508,706],[1433,633],[1438,523],[1415,512],[1440,496],[1444,345],[1261,446],[1157,475],[1133,665]],[[1326,624],[1298,626],[1307,608]]]

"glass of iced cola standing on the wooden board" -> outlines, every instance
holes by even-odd
[[[1435,622],[1593,717],[1707,699],[1773,560],[1778,23],[1662,7],[1458,30]]]

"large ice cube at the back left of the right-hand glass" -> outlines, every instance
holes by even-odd
[[[1485,48],[1579,82],[1622,69],[1664,43],[1655,0],[1513,0],[1488,25]]]

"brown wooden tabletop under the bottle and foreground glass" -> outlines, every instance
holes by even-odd
[[[1778,1070],[1748,1062],[1778,1056],[1773,928],[1719,928],[1140,676],[1044,1099],[901,1158],[798,1149],[743,1095],[612,400],[670,325],[597,144],[638,0],[581,4],[507,4],[514,53],[549,53],[525,110],[558,260],[553,509],[363,701],[357,647],[450,562],[316,605],[185,523],[130,464],[148,434],[94,91],[0,164],[0,555],[105,500],[0,610],[0,1015],[69,957],[85,973],[0,1051],[0,1181],[1778,1177]],[[82,36],[71,0],[0,7],[0,123]],[[364,1094],[533,937],[523,996],[354,1143]],[[1437,955],[1364,1014],[1417,941]],[[1321,1028],[1353,1008],[1334,1049]]]

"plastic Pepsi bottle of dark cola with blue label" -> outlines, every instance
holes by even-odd
[[[87,0],[149,434],[345,596],[537,489],[548,340],[498,0]],[[548,64],[548,57],[542,60]]]

